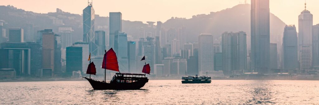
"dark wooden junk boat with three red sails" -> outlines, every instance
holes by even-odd
[[[105,51],[102,68],[105,69],[105,74],[106,69],[120,72],[117,57],[112,48],[108,52]],[[93,68],[93,66],[90,67],[89,65],[86,74],[95,75],[95,73],[95,66]],[[149,65],[144,65],[143,73],[150,73]],[[135,90],[142,88],[148,82],[145,74],[116,73],[111,81],[106,81],[105,75],[104,81],[97,81],[87,77],[83,78],[90,82],[94,90]]]

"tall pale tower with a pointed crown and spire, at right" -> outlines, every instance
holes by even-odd
[[[299,29],[299,62],[300,69],[309,69],[312,66],[312,14],[308,11],[305,3],[305,10],[298,16]]]

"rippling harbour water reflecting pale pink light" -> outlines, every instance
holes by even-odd
[[[319,81],[150,80],[140,90],[92,90],[87,81],[0,82],[0,104],[318,104],[318,87]]]

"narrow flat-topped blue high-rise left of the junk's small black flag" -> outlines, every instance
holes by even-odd
[[[127,42],[127,52],[129,59],[129,72],[139,73],[136,68],[136,43],[134,41]]]

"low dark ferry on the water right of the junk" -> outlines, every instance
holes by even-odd
[[[182,77],[182,83],[211,83],[209,76],[186,76]]]

